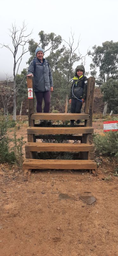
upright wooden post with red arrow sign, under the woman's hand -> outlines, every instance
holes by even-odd
[[[33,91],[33,77],[27,77],[27,87],[28,91],[31,89]],[[31,120],[31,114],[34,113],[34,99],[28,98],[28,120],[29,126],[34,126],[34,120]]]

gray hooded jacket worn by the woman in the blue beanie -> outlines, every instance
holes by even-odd
[[[50,91],[50,87],[53,87],[53,78],[50,66],[48,61],[43,58],[43,63],[39,62],[37,57],[36,61],[36,70],[34,73],[34,64],[33,61],[30,62],[28,68],[28,74],[33,74],[33,86],[34,91]]]

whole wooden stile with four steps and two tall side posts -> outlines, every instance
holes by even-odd
[[[33,78],[27,77],[28,88],[33,88]],[[67,113],[68,101],[66,98],[65,113],[34,113],[33,98],[28,99],[29,127],[27,128],[28,143],[25,145],[26,159],[23,169],[26,175],[31,173],[31,169],[75,169],[92,170],[95,175],[96,163],[94,161],[95,152],[93,144],[92,116],[94,97],[95,77],[89,77],[87,99],[85,103],[85,113]],[[32,97],[32,96],[31,96]],[[85,120],[83,127],[38,127],[35,120]],[[35,126],[36,125],[36,126]],[[71,140],[71,143],[43,143],[36,142],[36,139],[57,140],[57,135],[61,134],[61,139]],[[80,140],[81,143],[72,143],[73,140]],[[58,140],[57,140],[58,141]],[[80,152],[82,160],[54,160],[35,159],[36,152]]]

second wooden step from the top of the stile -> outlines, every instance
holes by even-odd
[[[92,127],[28,127],[27,134],[89,134]]]

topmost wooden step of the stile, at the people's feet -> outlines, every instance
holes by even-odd
[[[35,113],[32,120],[88,120],[89,114],[85,113]]]

